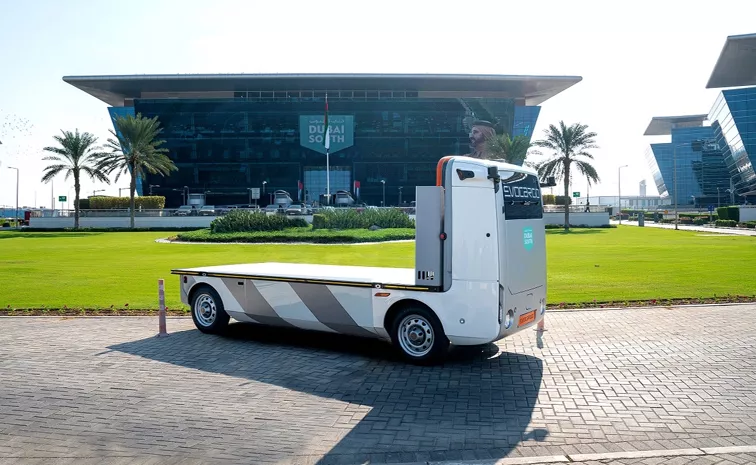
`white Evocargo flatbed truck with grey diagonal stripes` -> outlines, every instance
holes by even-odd
[[[253,263],[172,270],[200,331],[234,318],[390,341],[412,362],[481,345],[546,311],[541,189],[527,167],[442,158],[416,189],[415,268]]]

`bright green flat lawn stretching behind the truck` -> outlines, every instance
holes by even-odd
[[[0,232],[0,308],[180,305],[172,268],[282,261],[412,267],[414,244],[159,244],[166,232]],[[756,238],[620,227],[547,235],[549,303],[756,294]]]

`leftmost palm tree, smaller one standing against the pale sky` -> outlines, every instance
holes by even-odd
[[[56,155],[44,157],[43,160],[54,161],[44,169],[42,182],[49,182],[56,175],[65,172],[68,179],[74,178],[74,229],[79,229],[79,192],[81,191],[81,173],[86,173],[93,181],[110,184],[105,172],[97,166],[102,147],[97,145],[97,137],[85,132],[63,131],[63,136],[53,136],[58,147],[45,147],[43,150]]]

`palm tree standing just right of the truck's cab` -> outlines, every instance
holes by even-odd
[[[570,198],[570,181],[572,180],[572,165],[574,164],[578,171],[588,180],[588,185],[599,181],[596,168],[590,162],[583,158],[593,159],[593,155],[588,153],[589,149],[597,148],[595,132],[588,131],[585,124],[575,123],[571,126],[559,122],[557,128],[553,124],[544,130],[546,138],[533,143],[538,147],[552,150],[551,159],[536,165],[538,175],[541,179],[553,176],[557,182],[564,180],[564,230],[570,230],[570,207],[567,202]]]

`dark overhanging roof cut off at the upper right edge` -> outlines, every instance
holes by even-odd
[[[756,86],[756,34],[727,38],[707,89]]]

